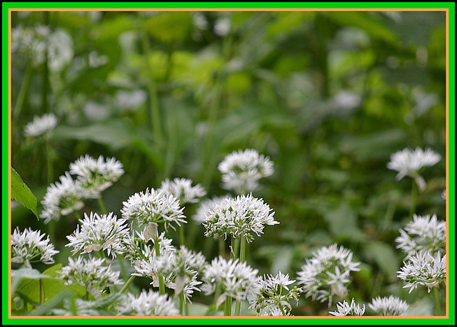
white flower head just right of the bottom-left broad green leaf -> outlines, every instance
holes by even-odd
[[[104,291],[109,286],[122,284],[119,279],[120,271],[114,271],[111,266],[104,266],[105,259],[83,259],[78,256],[76,261],[69,257],[69,264],[59,271],[59,278],[66,285],[81,285],[86,291]]]

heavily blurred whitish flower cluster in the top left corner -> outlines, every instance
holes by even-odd
[[[11,30],[11,53],[19,53],[26,61],[39,66],[48,60],[51,71],[61,71],[74,57],[73,40],[61,28],[18,26]]]

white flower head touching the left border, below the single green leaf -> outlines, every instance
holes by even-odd
[[[11,234],[11,262],[26,264],[31,267],[31,262],[41,261],[44,264],[54,264],[54,254],[59,251],[54,249],[54,244],[49,242],[49,236],[41,234],[40,231],[24,229],[19,231],[19,227],[14,229]]]

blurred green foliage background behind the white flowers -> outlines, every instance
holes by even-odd
[[[120,215],[131,194],[166,177],[225,194],[217,164],[255,148],[271,157],[275,174],[253,195],[281,224],[250,244],[252,266],[295,277],[312,251],[338,242],[363,263],[351,286],[356,300],[394,294],[427,306],[416,302],[421,290],[408,295],[396,278],[403,254],[394,240],[408,221],[411,180],[397,181],[386,163],[404,147],[440,153],[424,171],[416,213],[446,218],[445,18],[444,11],[13,11],[12,28],[68,33],[73,58],[60,71],[46,63],[31,70],[20,113],[12,113],[12,167],[41,201],[45,144],[23,130],[34,115],[54,113],[52,180],[86,153],[116,157],[126,174],[104,201]],[[11,58],[13,107],[27,66],[24,56]],[[190,217],[196,205],[187,209]],[[84,208],[91,210],[96,202]],[[21,206],[11,226],[46,232]],[[57,222],[57,262],[66,262],[65,235],[75,227],[72,216]],[[216,247],[204,246],[196,228],[194,249],[211,259]],[[293,313],[328,308],[303,297]]]

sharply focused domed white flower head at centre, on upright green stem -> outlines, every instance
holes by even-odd
[[[253,234],[261,236],[265,225],[279,224],[273,219],[272,211],[263,199],[257,199],[252,194],[223,199],[206,212],[203,222],[205,236],[231,234],[236,239],[244,237],[247,242],[252,242]]]

